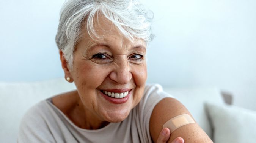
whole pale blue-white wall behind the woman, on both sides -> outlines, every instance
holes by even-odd
[[[142,2],[155,14],[149,83],[218,86],[256,110],[256,1]],[[0,81],[63,77],[54,42],[62,3],[0,1]]]

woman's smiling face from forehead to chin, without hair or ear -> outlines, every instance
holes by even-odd
[[[123,121],[143,96],[146,43],[127,40],[104,18],[95,29],[103,38],[92,40],[83,30],[70,74],[86,111],[103,121]]]

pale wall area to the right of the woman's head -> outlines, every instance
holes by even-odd
[[[218,86],[234,94],[235,105],[256,110],[256,1],[144,2],[155,13],[157,36],[148,82]]]

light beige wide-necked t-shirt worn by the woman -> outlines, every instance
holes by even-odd
[[[88,130],[77,127],[49,100],[31,107],[20,124],[19,143],[152,143],[149,119],[155,105],[171,95],[160,85],[146,85],[140,103],[119,123]]]

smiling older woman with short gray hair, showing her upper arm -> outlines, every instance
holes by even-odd
[[[197,123],[172,133],[162,127],[190,113],[161,86],[145,84],[150,16],[136,0],[66,2],[56,43],[65,78],[77,90],[27,111],[18,142],[212,143]]]

